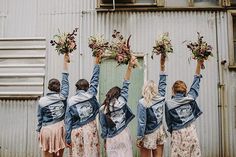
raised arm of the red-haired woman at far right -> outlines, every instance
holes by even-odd
[[[193,83],[192,83],[190,90],[188,92],[188,95],[191,96],[194,100],[198,97],[198,94],[199,94],[200,81],[202,78],[202,75],[200,74],[202,64],[203,64],[203,61],[201,61],[201,60],[197,61],[197,66],[196,66],[195,75],[193,78]]]

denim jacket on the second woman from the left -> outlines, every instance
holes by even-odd
[[[76,95],[72,96],[68,101],[66,109],[65,127],[66,142],[71,143],[71,131],[88,124],[96,118],[99,110],[97,101],[97,87],[99,83],[100,67],[98,64],[94,66],[93,75],[90,80],[90,86],[87,91],[78,90]]]

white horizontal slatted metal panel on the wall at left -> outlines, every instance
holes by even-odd
[[[0,96],[43,95],[45,58],[43,38],[0,38]]]

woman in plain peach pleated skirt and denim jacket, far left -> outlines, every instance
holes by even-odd
[[[69,55],[65,54],[65,72],[62,73],[61,86],[59,80],[49,80],[48,89],[50,92],[39,100],[37,131],[44,157],[63,156],[65,148],[64,116],[69,94],[68,62]]]

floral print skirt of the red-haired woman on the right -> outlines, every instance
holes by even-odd
[[[171,157],[200,157],[201,150],[194,124],[171,135]]]

